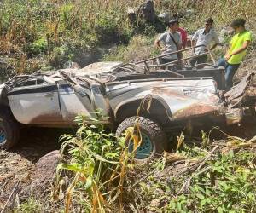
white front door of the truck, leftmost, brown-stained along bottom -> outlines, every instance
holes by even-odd
[[[8,93],[9,105],[21,124],[61,124],[61,110],[56,83],[29,79],[17,83]]]

